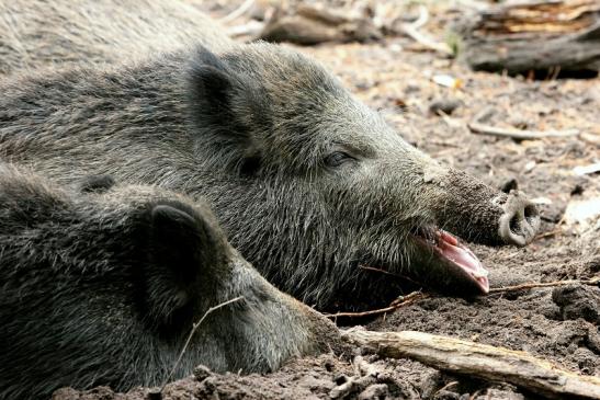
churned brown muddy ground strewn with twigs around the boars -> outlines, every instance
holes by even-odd
[[[213,13],[226,13],[215,1],[206,1],[205,5]],[[438,37],[461,13],[444,8],[431,12],[424,28]],[[240,22],[244,19],[237,20]],[[531,245],[473,245],[490,270],[493,286],[586,279],[600,274],[600,219],[586,219],[585,213],[578,213],[586,209],[578,208],[580,205],[596,204],[598,208],[600,174],[574,172],[576,167],[600,161],[599,78],[531,80],[473,72],[407,37],[299,49],[327,65],[415,146],[493,185],[510,186],[516,182],[536,198],[543,225]],[[433,77],[439,75],[454,78],[457,84],[448,88],[435,83]],[[454,103],[455,110],[449,115],[432,112],[440,102]],[[584,135],[516,141],[471,133],[466,124],[486,108],[493,111],[488,125],[535,130],[577,128]],[[434,296],[359,322],[372,330],[417,330],[523,350],[579,374],[600,377],[597,286],[507,292],[469,300]],[[536,398],[510,385],[451,376],[409,359],[356,358],[360,350],[347,358],[322,355],[297,359],[265,376],[214,375],[200,369],[197,378],[167,386],[163,398]],[[365,363],[374,363],[380,369],[376,377],[360,379]],[[358,382],[344,386],[350,377],[359,378]],[[83,393],[61,389],[55,398],[143,399],[148,390],[117,395],[107,388]]]

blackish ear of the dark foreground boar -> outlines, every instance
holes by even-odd
[[[144,302],[151,321],[172,325],[192,317],[203,281],[224,261],[213,226],[181,203],[151,209],[149,262],[144,268]]]

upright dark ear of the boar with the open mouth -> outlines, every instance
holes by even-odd
[[[226,58],[201,48],[189,75],[191,119],[195,139],[215,160],[240,175],[261,165],[260,138],[270,124],[260,84],[238,72]]]

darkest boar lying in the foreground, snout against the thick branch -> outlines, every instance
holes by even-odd
[[[98,182],[98,179],[93,179]],[[61,386],[127,390],[197,364],[264,373],[339,344],[336,327],[272,287],[207,207],[148,186],[80,194],[0,163],[0,398]]]

